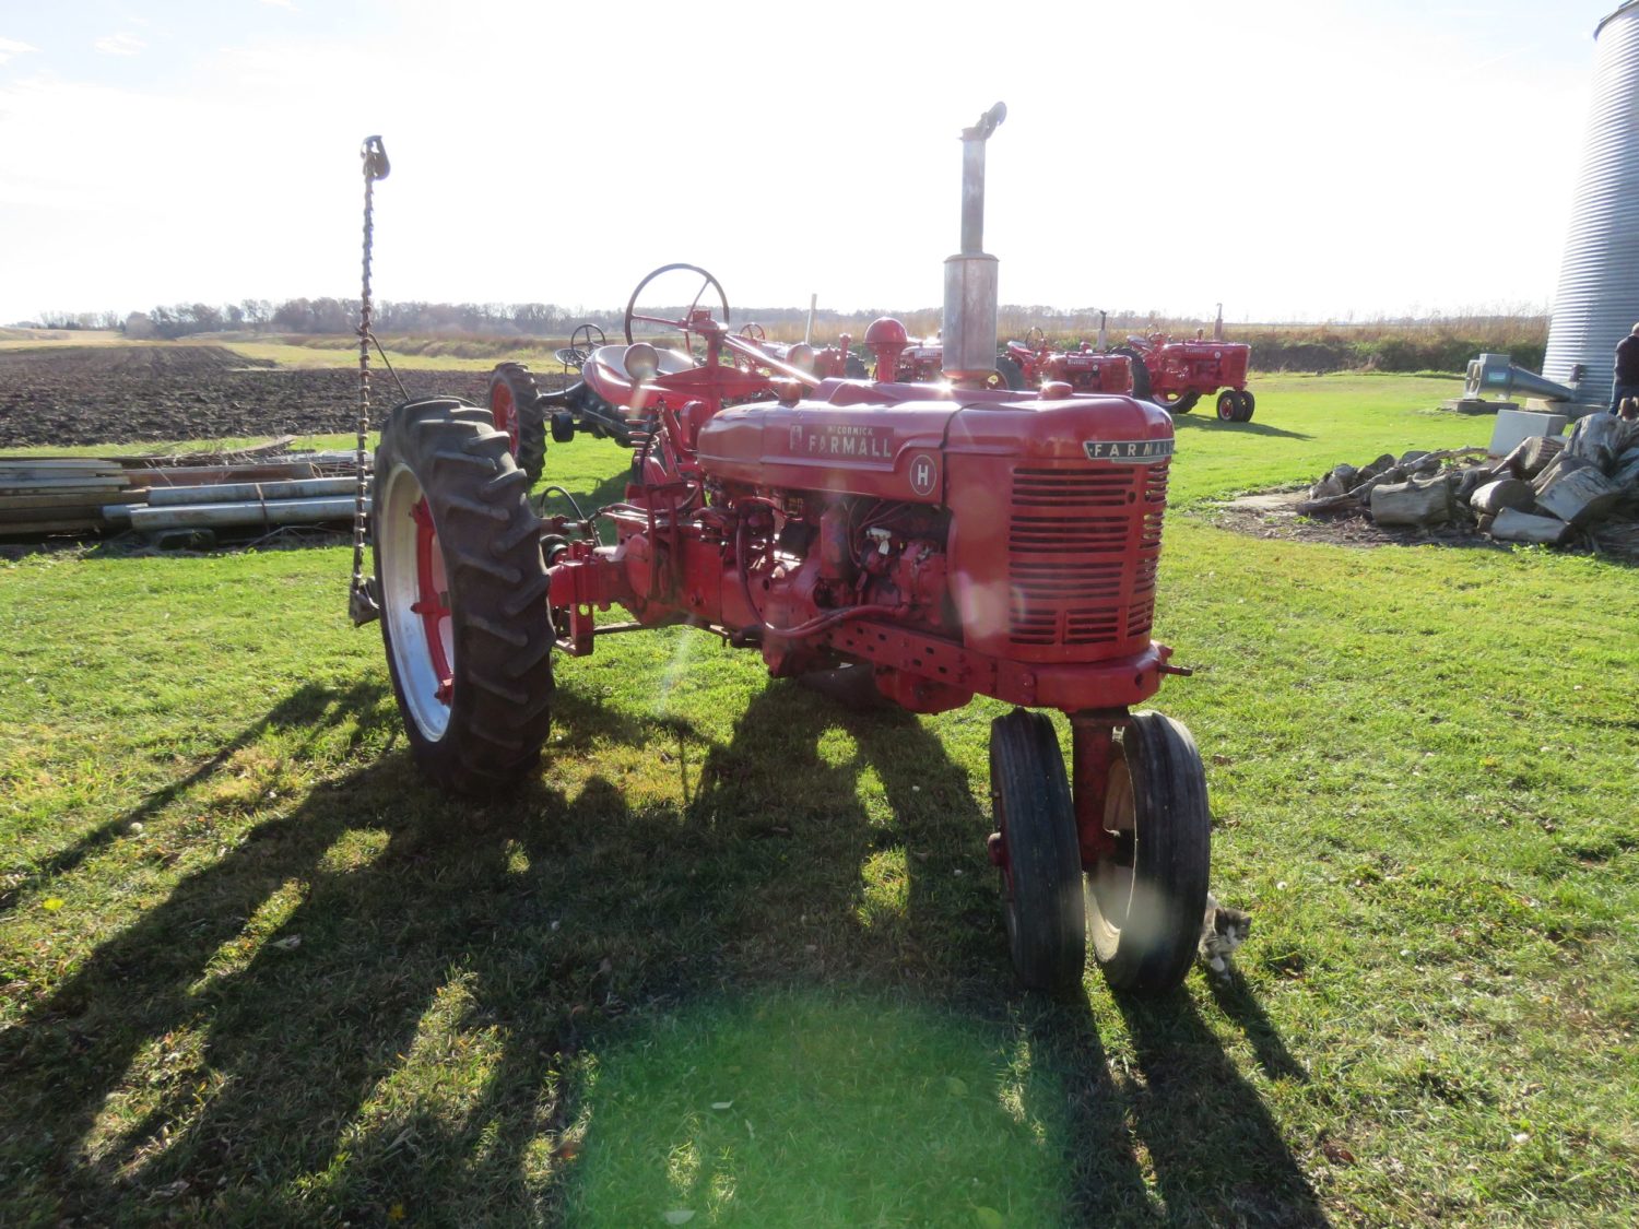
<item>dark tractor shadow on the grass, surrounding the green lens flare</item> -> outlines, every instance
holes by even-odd
[[[1036,1109],[1064,1124],[1049,1147],[1078,1221],[1160,1219],[1141,1155],[1167,1219],[1323,1219],[1187,996],[1123,1005],[1131,1091],[1085,998],[1013,988],[988,816],[929,723],[774,682],[679,798],[634,803],[602,754],[574,780],[574,752],[700,736],[570,688],[554,718],[572,754],[510,800],[443,798],[388,751],[208,857],[198,795],[234,749],[333,754],[397,724],[379,685],[308,687],[113,824],[187,824],[200,865],[0,1034],[0,1219],[551,1222],[600,1054],[769,985],[888,988],[1013,1029],[1052,1075]],[[874,909],[880,860],[903,900]]]

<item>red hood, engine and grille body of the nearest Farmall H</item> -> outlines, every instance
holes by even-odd
[[[870,662],[916,711],[1010,678],[1075,706],[1077,667],[1126,657],[1136,703],[1159,685],[1144,654],[1172,442],[1169,415],[1124,397],[826,380],[700,424],[675,503],[651,465],[608,513],[626,590],[610,596],[724,628],[777,675]]]

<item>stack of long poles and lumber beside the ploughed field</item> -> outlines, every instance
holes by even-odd
[[[0,457],[0,537],[188,528],[267,529],[352,518],[352,452]]]

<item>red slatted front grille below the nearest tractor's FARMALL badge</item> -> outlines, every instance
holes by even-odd
[[[1147,636],[1167,462],[1013,474],[1008,639],[1092,646]]]

